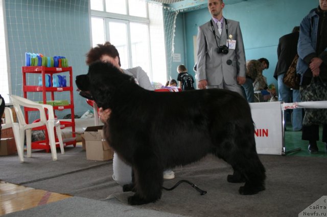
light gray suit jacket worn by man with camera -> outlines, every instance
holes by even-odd
[[[226,45],[226,25],[223,21],[221,36],[217,25],[213,21],[218,45]],[[243,38],[240,23],[227,19],[228,35],[232,35],[232,40],[236,40],[236,48],[229,49],[228,54],[218,53],[217,45],[209,22],[204,23],[198,28],[197,36],[197,79],[206,79],[208,85],[220,85],[224,81],[228,85],[237,84],[237,76],[245,77],[246,63]],[[227,60],[232,64],[228,65]]]

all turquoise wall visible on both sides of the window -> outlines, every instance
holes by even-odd
[[[276,85],[272,75],[277,62],[276,49],[279,37],[290,33],[293,26],[299,25],[302,18],[312,8],[318,6],[319,1],[247,0],[233,5],[228,5],[228,0],[225,2],[227,5],[224,8],[224,16],[240,21],[246,59],[267,58],[270,67],[264,71],[264,75],[268,79],[268,84]],[[74,77],[87,71],[84,64],[85,53],[90,48],[87,0],[40,0],[37,3],[32,0],[5,0],[5,7],[12,94],[22,96],[21,66],[25,65],[25,52],[43,53],[48,57],[65,56],[69,65],[73,67]],[[169,13],[165,15],[171,16]],[[181,62],[168,64],[171,78],[177,78],[176,68],[179,64],[184,64],[189,73],[194,75],[193,36],[197,35],[198,26],[210,18],[207,8],[177,15],[174,52],[180,53]],[[170,28],[171,26],[167,26],[165,29]],[[171,49],[171,39],[166,36],[166,40],[168,52]],[[38,82],[37,77],[34,78],[34,82]],[[39,95],[33,96],[33,100],[40,100]],[[75,114],[82,115],[91,108],[76,91],[74,102]],[[68,111],[63,111],[58,117],[62,117],[66,112]]]

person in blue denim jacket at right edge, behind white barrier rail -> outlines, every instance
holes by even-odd
[[[319,0],[318,8],[312,9],[300,24],[300,35],[297,44],[299,56],[296,71],[301,74],[300,96],[308,96],[312,77],[322,79],[322,83],[316,83],[321,91],[327,85],[327,0]],[[320,100],[327,100],[319,99]],[[325,110],[319,110],[319,114],[313,115],[313,109],[306,108],[303,118],[302,140],[309,141],[308,150],[310,153],[318,153],[317,141],[319,140],[319,124],[323,124],[322,142],[327,142],[327,115]],[[319,118],[317,119],[317,116]],[[319,123],[313,123],[312,119]]]

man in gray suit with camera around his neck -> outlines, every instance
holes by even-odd
[[[198,28],[198,87],[227,89],[244,96],[241,85],[246,65],[240,23],[223,17],[224,6],[223,0],[208,0],[213,17]]]

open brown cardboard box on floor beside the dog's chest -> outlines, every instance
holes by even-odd
[[[86,159],[110,160],[113,158],[113,150],[103,136],[103,126],[90,126],[84,131]]]

